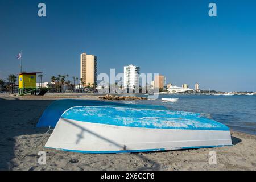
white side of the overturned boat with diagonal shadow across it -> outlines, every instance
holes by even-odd
[[[232,145],[229,130],[151,129],[60,118],[45,147],[83,153],[120,153],[229,145]]]

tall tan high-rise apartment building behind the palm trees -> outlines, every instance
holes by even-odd
[[[80,78],[84,86],[93,87],[97,84],[97,56],[81,53],[80,55]]]

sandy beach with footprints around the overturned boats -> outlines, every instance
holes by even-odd
[[[97,99],[98,96],[0,95],[1,170],[256,170],[256,136],[232,131],[233,146],[138,154],[77,154],[44,148],[50,133],[35,125],[56,99]],[[38,152],[46,152],[46,165]],[[217,164],[210,165],[209,151]]]

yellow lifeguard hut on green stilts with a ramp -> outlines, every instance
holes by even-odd
[[[33,73],[20,73],[19,74],[19,95],[23,96],[26,94],[36,95],[36,91],[40,90],[41,92],[48,89],[36,88],[36,73],[42,72],[33,72]],[[42,95],[42,93],[39,95]],[[44,94],[46,93],[44,92]]]

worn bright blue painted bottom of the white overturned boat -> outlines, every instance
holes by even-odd
[[[199,113],[152,110],[113,106],[78,106],[65,111],[61,118],[105,125],[150,129],[224,130],[229,128]]]

